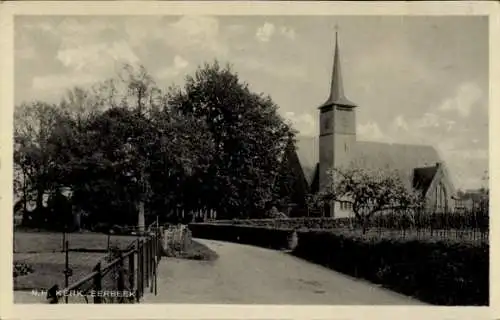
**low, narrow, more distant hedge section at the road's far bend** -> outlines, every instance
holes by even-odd
[[[287,249],[290,229],[239,226],[231,224],[193,223],[189,225],[193,238],[249,244],[270,249]]]

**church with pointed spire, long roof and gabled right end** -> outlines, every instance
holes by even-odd
[[[293,176],[290,202],[303,208],[306,194],[314,194],[328,182],[332,168],[351,167],[369,170],[392,170],[407,188],[420,192],[429,212],[453,209],[454,186],[438,152],[430,145],[393,144],[360,141],[356,138],[356,111],[362,106],[344,93],[338,36],[331,87],[328,99],[319,106],[319,135],[298,137],[284,155],[284,166]],[[381,110],[383,112],[383,110]],[[289,207],[289,215],[302,216],[303,210]],[[352,210],[347,203],[332,203],[322,215],[347,217]]]

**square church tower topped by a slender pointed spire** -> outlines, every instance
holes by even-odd
[[[330,96],[319,107],[320,190],[328,183],[328,170],[350,164],[351,149],[356,143],[355,108],[357,106],[344,95],[337,33],[336,31]],[[333,217],[335,215],[335,204],[326,206],[325,211],[325,215]]]

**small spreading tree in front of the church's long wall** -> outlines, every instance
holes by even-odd
[[[405,187],[396,172],[350,168],[333,169],[329,174],[329,183],[318,193],[316,202],[349,203],[363,233],[377,212],[406,212],[424,204],[422,195]]]

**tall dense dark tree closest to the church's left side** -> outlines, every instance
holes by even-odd
[[[255,94],[229,66],[217,62],[186,78],[184,88],[171,88],[168,103],[183,116],[203,119],[214,155],[198,175],[198,194],[218,218],[248,217],[272,199],[279,155],[291,128],[270,97]]]

